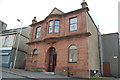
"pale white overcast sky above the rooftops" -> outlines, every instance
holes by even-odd
[[[119,0],[86,0],[96,25],[102,34],[118,32]],[[7,29],[18,28],[20,23],[27,27],[34,16],[43,20],[57,7],[64,13],[81,8],[82,0],[0,0],[0,20],[7,23]]]

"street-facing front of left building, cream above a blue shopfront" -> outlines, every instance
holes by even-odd
[[[6,39],[7,37],[7,39]],[[12,55],[12,47],[14,44],[14,40],[15,40],[15,34],[13,35],[0,35],[0,56],[2,56],[2,66],[3,67],[8,67],[10,66],[10,58]],[[2,43],[1,43],[2,42]],[[9,49],[11,48],[11,49]],[[8,50],[9,49],[9,50]],[[7,55],[3,55],[3,54],[8,53]]]

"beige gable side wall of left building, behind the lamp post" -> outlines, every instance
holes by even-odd
[[[30,29],[31,29],[30,27],[23,29],[22,34],[20,36],[19,36],[19,34],[16,35],[16,43],[14,45],[15,48],[17,48],[18,39],[19,39],[16,68],[24,68],[25,67],[25,60],[26,60],[26,55],[27,55],[27,51],[28,51],[28,45],[26,43],[29,41]],[[14,54],[16,54],[16,51],[14,51]],[[13,56],[15,56],[15,55],[13,55]]]

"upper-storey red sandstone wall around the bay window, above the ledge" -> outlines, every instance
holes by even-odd
[[[53,18],[47,18],[44,20],[42,23],[37,23],[32,26],[32,34],[31,34],[31,41],[38,41],[38,40],[43,40],[45,38],[49,37],[60,37],[60,36],[66,36],[66,35],[71,35],[71,34],[76,34],[76,33],[84,33],[87,32],[87,27],[86,27],[86,12],[81,12],[81,11],[75,11],[69,14],[66,14],[62,16],[61,18],[59,17],[53,17]],[[69,31],[69,19],[72,17],[77,17],[77,31],[70,32]],[[60,20],[60,32],[59,33],[48,33],[48,23],[50,20]],[[42,31],[41,31],[41,37],[38,39],[35,39],[35,34],[36,34],[36,28],[41,26]]]

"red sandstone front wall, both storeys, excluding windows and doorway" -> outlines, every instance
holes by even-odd
[[[75,11],[69,14],[65,14],[61,18],[47,18],[44,22],[38,23],[32,26],[31,40],[39,41],[49,37],[60,37],[76,33],[87,32],[86,28],[86,12]],[[78,30],[75,32],[69,32],[69,19],[72,17],[77,17],[78,19]],[[48,22],[49,20],[60,20],[60,32],[48,34]],[[36,28],[42,26],[41,37],[35,39]],[[70,45],[75,44],[78,49],[78,62],[68,63],[68,48]],[[54,47],[57,53],[57,64],[55,72],[59,74],[69,74],[77,77],[88,77],[88,37],[72,37],[72,38],[62,38],[56,43],[48,44],[46,42],[37,42],[29,44],[29,55],[26,62],[26,69],[31,69],[33,67],[47,67],[47,54],[48,49]],[[33,55],[33,50],[38,49],[38,55]]]

